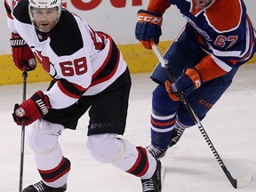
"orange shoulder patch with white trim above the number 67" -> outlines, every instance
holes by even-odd
[[[228,32],[240,26],[244,12],[241,0],[215,0],[205,17],[216,31]]]

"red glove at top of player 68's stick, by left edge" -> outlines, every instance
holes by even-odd
[[[23,70],[22,62],[26,62],[27,70],[34,70],[36,68],[36,58],[24,39],[22,39],[19,34],[12,33],[10,43],[12,46],[12,58],[15,65],[20,68],[20,70]]]

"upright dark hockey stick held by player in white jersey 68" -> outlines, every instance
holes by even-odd
[[[23,65],[22,101],[25,101],[26,100],[26,91],[27,91],[28,72],[27,72],[27,63],[25,61],[22,61],[22,65]],[[19,188],[19,192],[22,191],[22,183],[23,183],[24,145],[25,145],[25,121],[22,121],[21,140],[20,140],[20,188]]]

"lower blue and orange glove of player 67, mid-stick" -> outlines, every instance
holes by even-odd
[[[171,91],[184,92],[187,96],[203,84],[203,79],[196,68],[187,68],[185,73],[179,76],[173,84]]]

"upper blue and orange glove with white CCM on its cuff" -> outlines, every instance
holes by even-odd
[[[135,36],[146,49],[152,49],[150,45],[151,39],[155,44],[159,43],[159,37],[162,35],[162,21],[162,14],[146,10],[138,12]]]

